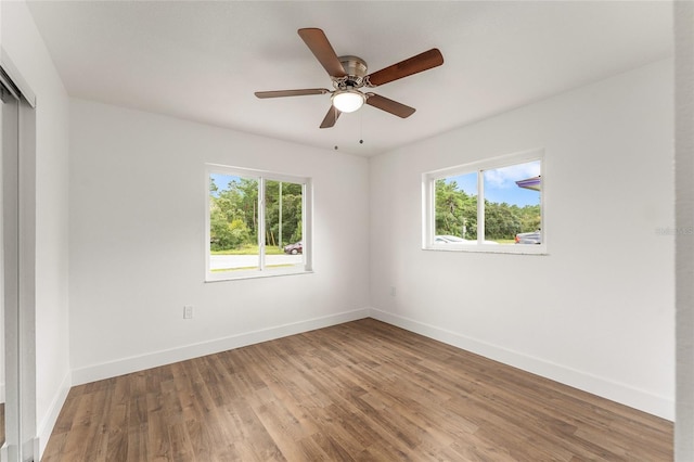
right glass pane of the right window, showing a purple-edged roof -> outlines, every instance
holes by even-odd
[[[540,244],[540,161],[485,170],[484,181],[485,242]]]

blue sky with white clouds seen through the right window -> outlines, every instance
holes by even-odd
[[[540,175],[540,161],[517,164],[485,170],[485,198],[489,202],[505,202],[516,204],[518,207],[538,205],[540,193],[524,188],[518,188],[516,181]],[[467,174],[458,177],[448,177],[447,182],[455,180],[459,189],[471,195],[477,194],[477,175]]]

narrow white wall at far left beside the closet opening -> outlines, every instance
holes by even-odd
[[[2,48],[37,97],[36,413],[41,449],[69,388],[68,99],[23,1],[2,2]]]

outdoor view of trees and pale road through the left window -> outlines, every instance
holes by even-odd
[[[210,270],[301,265],[303,194],[300,183],[210,174]]]

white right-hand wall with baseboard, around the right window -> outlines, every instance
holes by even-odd
[[[372,158],[373,316],[672,419],[672,107],[659,62]],[[550,255],[421,249],[422,172],[534,147]]]

